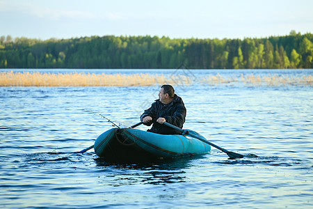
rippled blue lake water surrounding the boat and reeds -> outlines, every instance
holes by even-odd
[[[47,71],[54,72],[41,72]],[[122,70],[134,72],[159,71]],[[193,76],[218,72],[313,75],[313,70],[196,70]],[[175,88],[187,108],[184,128],[259,158],[229,160],[212,148],[195,157],[113,164],[93,150],[72,153],[112,127],[97,114],[138,123],[159,86],[1,87],[1,208],[313,208],[312,86],[195,82]]]

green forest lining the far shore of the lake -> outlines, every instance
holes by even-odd
[[[313,68],[313,35],[243,39],[92,36],[49,40],[1,36],[0,68]]]

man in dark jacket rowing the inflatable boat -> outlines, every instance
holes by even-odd
[[[185,123],[186,108],[182,98],[175,94],[174,88],[170,85],[163,85],[160,88],[159,100],[155,100],[149,109],[141,115],[141,121],[145,125],[152,125],[149,132],[158,134],[181,134],[172,127],[163,125],[168,122],[182,128]]]

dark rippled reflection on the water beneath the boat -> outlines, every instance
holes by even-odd
[[[172,160],[154,160],[153,162],[116,163],[106,162],[103,158],[95,159],[97,167],[104,167],[100,176],[103,185],[115,187],[122,185],[151,184],[166,185],[186,180],[186,169],[193,160],[201,156],[183,157]],[[100,177],[99,177],[100,178]]]

